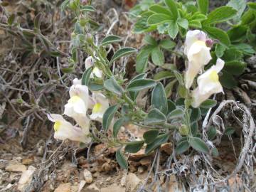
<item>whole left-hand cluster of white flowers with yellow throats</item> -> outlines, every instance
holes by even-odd
[[[85,60],[85,68],[90,67],[93,67],[91,78],[94,76],[102,78],[102,71],[93,65],[92,57]],[[102,92],[92,92],[90,94],[88,87],[82,85],[82,80],[77,78],[73,80],[69,96],[70,99],[65,105],[63,114],[73,118],[77,124],[74,126],[60,114],[48,114],[48,119],[54,122],[54,138],[89,143],[91,141],[90,120],[102,122],[103,114],[109,107],[109,101]],[[92,111],[90,115],[89,109]]]

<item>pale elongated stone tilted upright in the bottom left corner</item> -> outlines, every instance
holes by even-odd
[[[26,191],[26,187],[31,183],[33,178],[33,173],[36,171],[34,166],[28,166],[28,170],[24,171],[18,181],[18,190]]]

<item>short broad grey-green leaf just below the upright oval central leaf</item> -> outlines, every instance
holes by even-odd
[[[144,119],[144,124],[162,124],[166,122],[166,116],[158,109],[152,109]]]

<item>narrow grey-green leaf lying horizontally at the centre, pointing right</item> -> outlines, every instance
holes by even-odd
[[[140,91],[156,86],[156,82],[150,79],[134,80],[127,86],[127,91]]]

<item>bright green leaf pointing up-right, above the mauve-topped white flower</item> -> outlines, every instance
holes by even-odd
[[[207,19],[203,21],[203,25],[228,21],[230,18],[233,18],[236,13],[237,11],[230,6],[220,6],[208,14]]]

